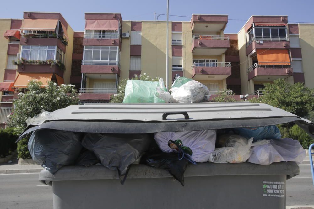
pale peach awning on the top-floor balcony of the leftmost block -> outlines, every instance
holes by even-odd
[[[21,30],[55,31],[58,20],[51,19],[24,19]]]

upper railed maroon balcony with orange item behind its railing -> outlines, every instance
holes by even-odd
[[[230,47],[229,36],[220,35],[193,35],[193,55],[216,56],[225,53]]]

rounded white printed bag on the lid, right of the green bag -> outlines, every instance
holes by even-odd
[[[174,91],[175,90],[175,91]],[[198,81],[188,81],[178,89],[172,88],[171,102],[198,103],[207,101],[210,97],[208,88]]]

